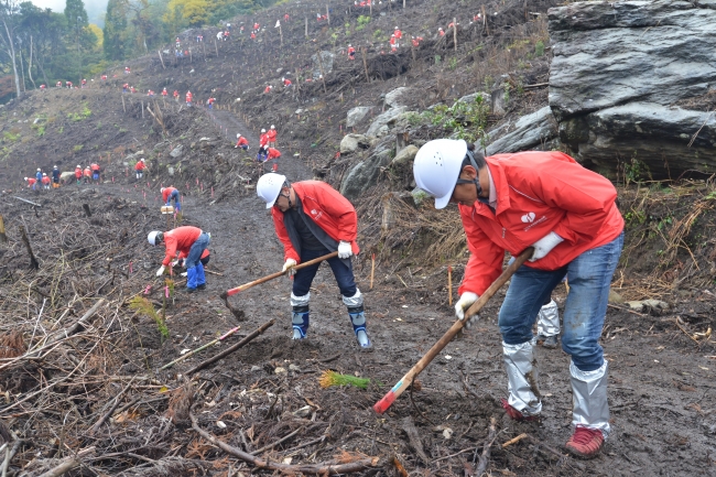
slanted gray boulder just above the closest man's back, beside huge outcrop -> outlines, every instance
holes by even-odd
[[[557,121],[549,106],[523,116],[514,123],[514,130],[487,147],[487,155],[551,149],[560,133]]]

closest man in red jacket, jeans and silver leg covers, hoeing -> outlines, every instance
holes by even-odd
[[[458,204],[470,258],[455,306],[465,311],[512,256],[534,248],[510,281],[498,325],[508,375],[507,414],[536,420],[542,411],[532,325],[540,307],[565,274],[562,349],[571,355],[574,433],[572,454],[596,456],[610,431],[608,364],[599,345],[609,283],[621,254],[623,219],[614,185],[562,152],[519,152],[489,158],[465,141],[424,144],[413,163],[417,187],[436,197],[435,207]]]

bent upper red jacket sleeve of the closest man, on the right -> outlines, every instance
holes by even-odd
[[[571,245],[592,241],[617,199],[617,189],[606,177],[584,169],[568,155],[551,154],[564,156],[565,162],[551,167],[550,174],[539,174],[536,167],[525,172],[533,174],[529,181],[532,189],[549,206],[566,210],[555,234]]]

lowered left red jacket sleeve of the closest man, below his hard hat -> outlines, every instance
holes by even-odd
[[[465,292],[473,292],[481,295],[502,273],[505,250],[490,240],[482,229],[473,221],[471,214],[475,210],[473,207],[460,206],[459,208],[470,258],[465,267],[465,275],[457,293],[462,295]]]

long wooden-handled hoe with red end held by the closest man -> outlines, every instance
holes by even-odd
[[[480,310],[482,310],[482,307],[492,297],[492,295],[495,293],[497,293],[497,291],[508,280],[510,280],[510,277],[512,277],[512,274],[517,271],[517,269],[522,267],[522,263],[524,263],[527,261],[527,259],[532,257],[533,252],[534,252],[534,248],[530,247],[530,248],[525,249],[522,253],[517,256],[517,258],[514,259],[514,262],[512,262],[511,265],[509,265],[507,269],[505,269],[502,274],[500,277],[498,277],[498,279],[495,280],[495,282],[492,282],[492,284],[485,291],[485,293],[482,293],[482,296],[480,296],[477,300],[477,302],[473,303],[473,306],[470,306],[465,312],[465,316],[466,317],[467,316],[473,316],[473,315],[477,314]],[[463,329],[464,324],[465,324],[465,322],[460,321],[460,319],[453,323],[453,326],[451,326],[451,328],[443,335],[443,337],[440,338],[437,340],[437,343],[435,343],[433,345],[433,347],[430,348],[427,350],[427,353],[425,353],[425,355],[423,355],[422,358],[420,358],[420,361],[417,361],[415,364],[415,366],[413,366],[410,369],[410,371],[408,371],[405,373],[405,376],[403,376],[401,378],[401,380],[398,381],[398,383],[395,386],[393,386],[393,389],[388,391],[388,393],[386,395],[383,395],[383,398],[380,401],[378,401],[376,404],[373,404],[373,411],[376,411],[378,414],[382,414],[383,412],[388,411],[388,408],[390,408],[391,404],[393,402],[395,402],[395,399],[400,394],[402,394],[403,391],[405,391],[413,383],[413,379],[415,379],[417,377],[417,375],[420,375],[420,371],[425,369],[427,367],[427,365],[430,365],[430,362],[433,359],[435,359],[437,354],[440,351],[442,351],[443,348],[445,346],[447,346],[447,344],[449,342],[453,340],[455,335],[457,335],[459,333],[459,330]]]

